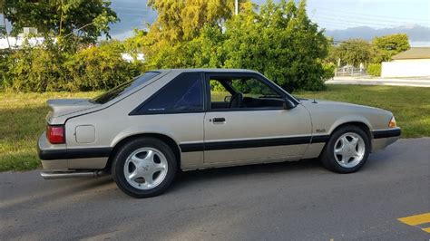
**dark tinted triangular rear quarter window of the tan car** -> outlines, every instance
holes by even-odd
[[[200,72],[184,72],[155,93],[136,114],[203,111]]]

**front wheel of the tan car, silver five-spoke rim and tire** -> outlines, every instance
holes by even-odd
[[[338,173],[356,172],[365,165],[370,141],[366,132],[357,126],[345,126],[336,130],[321,155],[321,162]]]

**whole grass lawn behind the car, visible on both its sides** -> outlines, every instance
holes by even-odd
[[[326,92],[295,92],[306,98],[346,101],[392,111],[403,138],[430,136],[430,88],[328,85]],[[0,171],[40,167],[36,142],[44,131],[45,101],[93,97],[98,92],[0,92]],[[223,99],[223,96],[221,96]]]

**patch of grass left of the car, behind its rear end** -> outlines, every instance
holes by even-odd
[[[0,171],[40,167],[36,144],[45,129],[48,99],[93,97],[96,92],[0,92]]]

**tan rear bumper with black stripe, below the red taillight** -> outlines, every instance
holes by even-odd
[[[65,144],[52,145],[43,133],[37,151],[44,169],[104,169],[112,149],[67,149]]]

